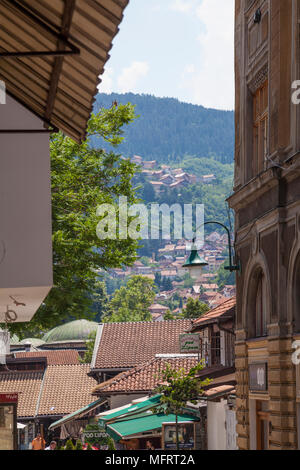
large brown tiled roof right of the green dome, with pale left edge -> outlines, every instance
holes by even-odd
[[[131,368],[155,354],[178,354],[179,335],[191,326],[191,320],[104,323],[99,326],[103,329],[91,368]]]

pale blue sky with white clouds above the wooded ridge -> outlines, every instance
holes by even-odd
[[[99,91],[234,108],[234,0],[130,0]]]

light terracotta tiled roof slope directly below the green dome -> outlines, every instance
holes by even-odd
[[[89,370],[88,364],[47,367],[38,415],[69,414],[91,403],[96,382]]]

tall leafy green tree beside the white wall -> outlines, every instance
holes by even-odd
[[[12,326],[21,336],[38,334],[66,319],[101,313],[99,295],[105,297],[105,292],[102,288],[102,294],[99,290],[97,294],[99,269],[131,265],[136,260],[136,241],[100,240],[96,234],[99,205],[113,204],[118,213],[120,195],[127,196],[129,204],[137,201],[132,186],[136,166],[113,151],[122,142],[123,126],[134,118],[132,105],[112,106],[92,115],[88,137],[81,145],[62,133],[52,135],[54,287],[30,323]],[[99,142],[97,149],[90,145],[92,136]],[[110,146],[109,151],[100,148],[104,144]],[[95,312],[91,307],[97,300]]]

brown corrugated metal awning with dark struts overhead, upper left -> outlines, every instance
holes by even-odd
[[[129,0],[0,0],[7,93],[81,141]]]

